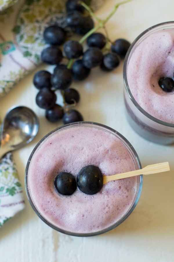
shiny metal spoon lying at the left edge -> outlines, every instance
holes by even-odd
[[[39,119],[28,107],[11,108],[1,125],[0,159],[6,153],[19,149],[34,139],[39,130]]]

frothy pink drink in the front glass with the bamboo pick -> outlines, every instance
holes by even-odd
[[[39,143],[26,168],[26,189],[36,213],[54,229],[75,236],[96,235],[122,222],[134,209],[141,191],[139,176],[115,180],[89,195],[78,187],[61,195],[54,186],[60,172],[77,177],[87,165],[103,175],[139,169],[134,149],[120,134],[99,124],[68,125]],[[106,230],[107,229],[107,230]]]

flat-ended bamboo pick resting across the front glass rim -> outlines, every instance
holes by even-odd
[[[170,167],[168,162],[158,163],[158,164],[152,164],[148,165],[142,169],[121,173],[121,174],[115,174],[111,176],[103,176],[103,184],[106,184],[109,181],[121,179],[121,178],[127,178],[131,176],[138,176],[138,175],[149,175],[149,174],[156,174],[161,173],[165,171],[169,171]]]

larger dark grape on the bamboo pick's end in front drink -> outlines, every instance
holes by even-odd
[[[98,167],[83,167],[77,174],[77,187],[85,194],[93,195],[103,187],[103,175]]]

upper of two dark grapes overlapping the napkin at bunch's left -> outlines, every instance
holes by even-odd
[[[66,31],[57,26],[48,26],[44,30],[44,40],[50,45],[62,45],[66,40]]]

